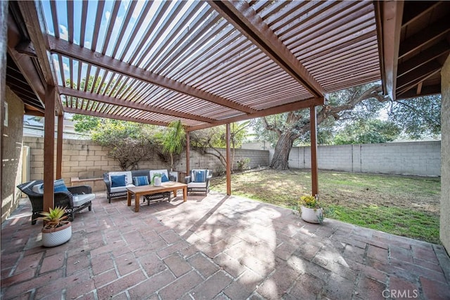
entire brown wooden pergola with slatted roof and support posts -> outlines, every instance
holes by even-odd
[[[61,176],[64,112],[162,126],[181,120],[188,133],[226,124],[229,162],[230,123],[309,109],[316,195],[316,107],[327,93],[380,79],[393,100],[439,93],[450,49],[446,1],[9,1],[8,8],[6,81],[27,114],[46,116],[46,186],[55,177],[54,115]]]

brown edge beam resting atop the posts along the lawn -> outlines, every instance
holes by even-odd
[[[229,119],[220,120],[220,121],[214,122],[212,124],[203,124],[203,125],[199,125],[199,126],[191,126],[191,127],[188,127],[186,129],[186,131],[195,131],[195,130],[199,130],[199,129],[205,129],[205,128],[211,127],[211,126],[218,126],[218,125],[223,125],[223,124],[227,124],[227,123],[244,121],[244,120],[247,120],[247,119],[254,119],[254,118],[259,118],[259,117],[265,117],[265,116],[269,116],[269,115],[276,115],[276,114],[281,114],[282,112],[291,112],[293,110],[303,110],[303,109],[309,108],[311,106],[319,106],[319,105],[323,105],[323,104],[325,104],[325,98],[323,98],[323,97],[313,98],[313,99],[304,100],[304,101],[300,101],[300,102],[280,105],[280,106],[277,106],[277,107],[271,107],[271,108],[268,108],[266,110],[259,110],[258,112],[255,112],[253,114],[240,115],[240,116],[237,116],[237,117],[232,117],[232,118],[229,118]]]

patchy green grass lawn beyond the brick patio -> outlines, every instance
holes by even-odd
[[[212,190],[226,193],[226,178],[212,178]],[[231,176],[233,195],[298,209],[311,193],[309,170],[264,169]],[[439,242],[440,178],[319,171],[319,195],[326,217],[358,226]]]

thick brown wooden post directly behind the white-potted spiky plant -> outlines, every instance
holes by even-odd
[[[53,208],[53,180],[55,158],[55,86],[47,85],[45,91],[44,124],[44,211]]]

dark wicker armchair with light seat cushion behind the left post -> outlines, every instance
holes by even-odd
[[[41,211],[44,210],[44,190],[41,189],[43,182],[42,180],[29,181],[17,186],[28,196],[32,204],[32,225],[36,224],[36,219],[41,216]],[[66,214],[68,214],[70,221],[73,221],[76,212],[86,207],[91,211],[92,200],[95,199],[96,195],[92,193],[92,188],[89,185],[69,186],[67,189],[68,191],[54,192],[54,206],[65,207]]]

